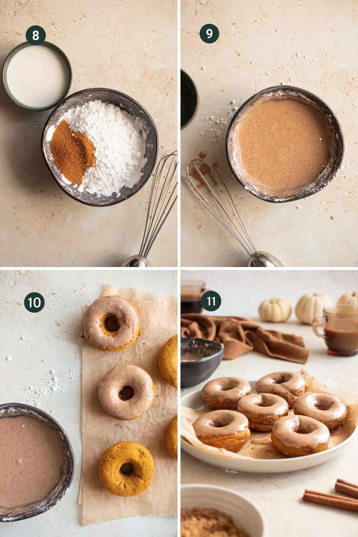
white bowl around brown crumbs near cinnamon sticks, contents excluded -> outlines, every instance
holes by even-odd
[[[267,525],[261,512],[233,490],[214,485],[181,485],[180,506],[182,509],[217,509],[230,515],[233,523],[250,537],[268,537]]]

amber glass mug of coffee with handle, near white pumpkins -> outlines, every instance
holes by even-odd
[[[323,324],[324,334],[317,325]],[[316,336],[324,337],[328,353],[334,356],[354,356],[358,353],[358,306],[330,306],[324,308],[323,317],[312,321]]]

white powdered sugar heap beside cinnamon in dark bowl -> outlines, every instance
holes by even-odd
[[[85,189],[98,197],[112,193],[119,197],[123,186],[138,183],[147,162],[144,157],[147,134],[140,119],[100,100],[71,108],[59,122],[63,119],[68,121],[71,130],[87,135],[96,148],[96,165],[86,168],[78,190]]]

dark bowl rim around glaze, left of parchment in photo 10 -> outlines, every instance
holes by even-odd
[[[17,509],[16,513],[5,513],[4,508],[0,507],[0,522],[24,520],[45,513],[45,511],[48,511],[51,507],[54,507],[54,505],[60,502],[70,488],[75,473],[75,455],[71,442],[64,429],[52,416],[44,410],[23,403],[0,404],[0,419],[13,416],[29,416],[39,419],[57,431],[62,444],[63,469],[60,482],[56,485],[46,500],[41,500],[37,504],[27,506],[27,510],[24,510],[23,512],[18,512]]]

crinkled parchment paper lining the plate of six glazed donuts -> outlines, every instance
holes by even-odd
[[[344,424],[338,427],[337,430],[331,432],[328,449],[337,446],[337,444],[341,444],[341,442],[346,440],[352,434],[355,427],[358,425],[358,394],[349,394],[345,391],[331,390],[319,382],[315,377],[310,376],[304,369],[301,369],[300,373],[304,378],[306,391],[335,395],[342,401],[342,403],[347,405],[349,418]],[[199,416],[202,416],[211,410],[213,409],[207,407],[204,402],[203,407],[199,410],[181,407],[181,438],[184,438],[189,444],[192,444],[199,449],[203,449],[203,451],[215,452],[221,457],[228,459],[246,459],[247,457],[250,457],[251,459],[287,459],[286,455],[282,455],[272,446],[271,432],[251,432],[250,440],[246,442],[244,447],[240,449],[238,453],[203,444],[196,437],[192,423],[198,419]],[[292,409],[289,410],[288,415],[293,415]]]

